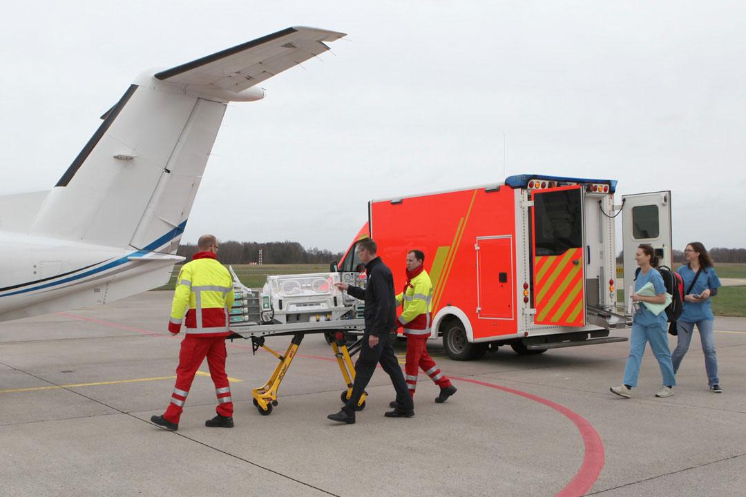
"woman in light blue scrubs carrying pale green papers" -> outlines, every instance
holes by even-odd
[[[632,334],[630,335],[630,356],[627,358],[627,365],[624,366],[624,379],[621,385],[611,387],[609,390],[626,399],[632,396],[632,388],[637,386],[637,377],[640,373],[645,344],[650,342],[653,354],[658,359],[660,373],[663,376],[663,386],[655,396],[670,397],[674,395],[676,378],[674,367],[671,364],[671,351],[668,350],[668,318],[665,311],[656,315],[644,304],[665,303],[665,283],[663,283],[663,277],[656,269],[658,257],[651,245],[642,244],[637,247],[635,261],[640,270],[635,279],[635,293],[632,294],[632,301],[635,303],[636,310],[632,321]],[[648,283],[653,285],[655,295],[638,294],[637,292],[641,291],[642,287]]]

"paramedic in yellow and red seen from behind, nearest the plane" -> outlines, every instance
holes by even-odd
[[[189,387],[205,357],[215,384],[218,406],[216,417],[204,424],[233,427],[233,399],[225,373],[225,358],[228,355],[225,337],[230,334],[228,309],[233,306],[233,280],[228,270],[216,259],[218,240],[215,236],[202,235],[197,247],[199,252],[181,268],[176,280],[169,321],[169,332],[177,335],[186,312],[186,336],[181,341],[176,385],[166,412],[162,416],[151,417],[152,422],[172,431],[178,428]]]

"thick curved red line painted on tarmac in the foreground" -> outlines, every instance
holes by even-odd
[[[542,397],[533,395],[532,393],[521,392],[521,390],[515,390],[509,387],[503,387],[494,383],[480,382],[479,380],[459,378],[457,376],[450,376],[451,379],[458,380],[460,382],[468,382],[481,385],[483,387],[495,388],[495,390],[503,390],[507,393],[513,393],[526,399],[539,402],[540,404],[546,405],[558,411],[562,416],[568,418],[578,431],[580,431],[580,437],[583,438],[583,444],[585,445],[585,455],[583,455],[583,463],[580,464],[580,469],[575,473],[574,478],[565,485],[565,488],[557,493],[557,497],[571,497],[571,496],[583,496],[586,492],[591,490],[593,484],[598,480],[598,475],[601,474],[601,469],[604,469],[604,443],[601,441],[601,436],[598,431],[593,428],[588,420],[580,416],[574,411],[565,408],[564,405],[557,404],[551,400],[544,399]]]

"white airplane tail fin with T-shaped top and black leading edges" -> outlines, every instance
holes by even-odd
[[[44,200],[31,235],[175,253],[228,101],[345,36],[287,28],[131,85]]]

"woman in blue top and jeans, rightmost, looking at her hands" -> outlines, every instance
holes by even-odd
[[[686,246],[684,249],[686,264],[677,269],[677,273],[684,280],[684,310],[677,320],[678,343],[671,358],[674,362],[674,373],[679,370],[681,360],[694,335],[695,325],[700,332],[702,352],[704,352],[704,368],[707,372],[707,383],[709,390],[721,393],[720,379],[718,378],[718,356],[715,354],[715,317],[712,316],[712,308],[709,303],[710,297],[715,297],[721,283],[715,268],[712,265],[706,248],[698,241]],[[692,285],[694,282],[694,285]]]

